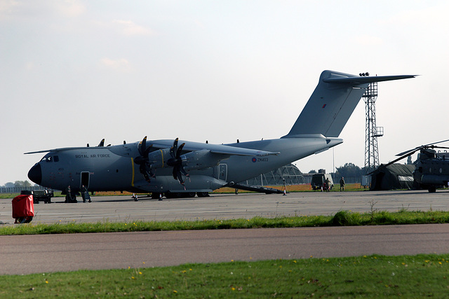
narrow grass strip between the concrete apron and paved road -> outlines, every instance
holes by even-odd
[[[0,227],[0,235],[66,234],[83,232],[137,232],[153,230],[221,230],[238,228],[301,228],[339,225],[398,225],[449,223],[449,211],[339,211],[333,216],[281,216],[276,218],[195,221],[129,221],[98,223],[27,223]]]

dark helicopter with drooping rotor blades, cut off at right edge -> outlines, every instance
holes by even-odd
[[[393,160],[381,167],[377,168],[375,171],[387,167],[393,163],[398,162],[404,158],[413,155],[417,151],[420,151],[417,161],[415,164],[415,170],[413,171],[413,179],[419,188],[424,190],[429,190],[429,193],[436,192],[436,188],[441,188],[443,186],[448,186],[449,182],[449,153],[437,152],[435,148],[449,149],[445,146],[436,146],[435,144],[441,144],[447,140],[434,142],[431,144],[425,144],[422,146],[417,146],[416,148],[398,153],[396,156],[400,156],[396,160]],[[368,175],[373,174],[370,172]]]

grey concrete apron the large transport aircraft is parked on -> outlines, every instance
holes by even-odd
[[[173,221],[253,218],[255,216],[333,215],[350,210],[377,211],[449,210],[449,191],[302,192],[288,195],[256,193],[212,194],[210,197],[162,201],[129,196],[92,197],[91,203],[65,204],[53,197],[51,204],[34,204],[32,223],[96,223],[98,221]],[[11,199],[0,200],[0,223],[13,223]]]

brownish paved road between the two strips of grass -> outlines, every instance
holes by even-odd
[[[448,253],[449,225],[0,236],[0,274]]]

